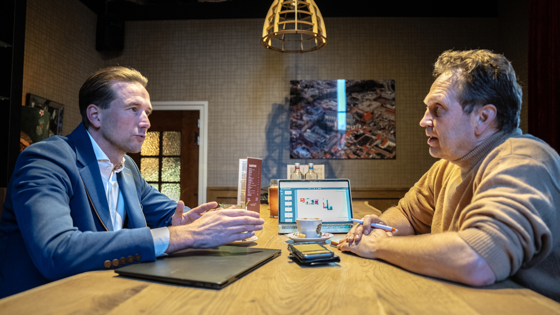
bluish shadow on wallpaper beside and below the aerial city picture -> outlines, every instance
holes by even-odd
[[[337,178],[330,160],[290,159],[290,99],[271,107],[265,127],[267,156],[263,159],[261,186],[270,186],[270,179],[286,179],[286,165],[294,163],[324,164],[325,178]]]

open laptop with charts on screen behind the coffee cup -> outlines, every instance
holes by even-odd
[[[278,233],[297,232],[298,217],[323,219],[321,232],[348,233],[352,197],[348,179],[278,180]]]

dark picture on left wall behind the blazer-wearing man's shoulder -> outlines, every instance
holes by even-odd
[[[20,151],[48,137],[62,136],[63,104],[28,93],[25,105],[21,108]]]

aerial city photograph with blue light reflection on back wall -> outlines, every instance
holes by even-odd
[[[290,158],[396,159],[395,80],[344,81],[290,81]]]

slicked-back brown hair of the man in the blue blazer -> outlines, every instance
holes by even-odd
[[[83,126],[90,127],[87,119],[87,106],[95,104],[101,109],[108,109],[111,101],[115,99],[115,93],[111,87],[112,81],[137,82],[143,87],[148,84],[148,79],[140,72],[130,67],[107,67],[94,72],[87,78],[80,89],[78,105],[82,114]]]

